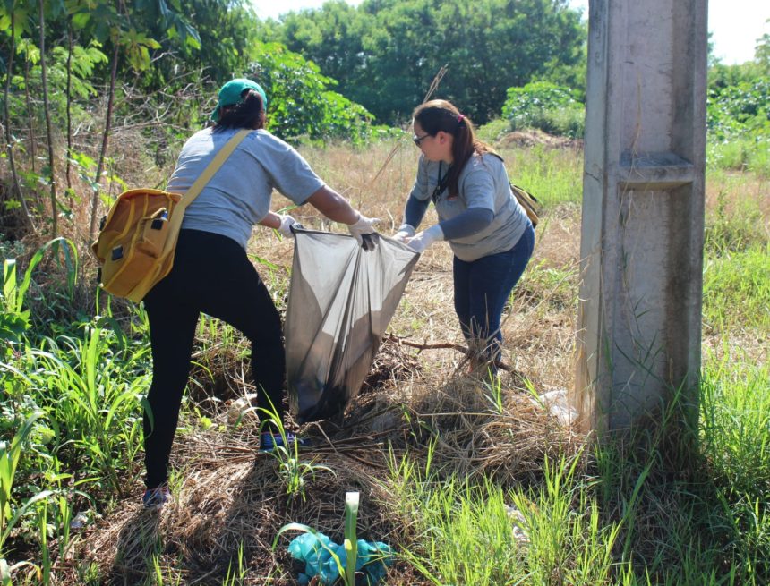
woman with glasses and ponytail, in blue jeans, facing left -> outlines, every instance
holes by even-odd
[[[417,252],[446,240],[454,253],[455,311],[477,358],[500,360],[500,318],[535,247],[535,230],[510,190],[502,159],[475,138],[458,108],[436,99],[412,115],[421,150],[394,238]],[[439,223],[415,234],[431,201]]]

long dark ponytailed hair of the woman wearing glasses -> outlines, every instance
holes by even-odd
[[[457,106],[445,99],[432,99],[415,108],[412,118],[420,123],[424,132],[436,136],[439,132],[451,134],[452,165],[449,166],[447,186],[449,195],[459,195],[460,172],[466,163],[476,153],[494,152],[485,142],[475,138],[474,125],[470,119],[460,114]]]

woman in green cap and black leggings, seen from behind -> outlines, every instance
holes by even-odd
[[[228,81],[211,115],[214,126],[184,144],[167,191],[184,195],[227,141],[252,129],[184,212],[174,267],[144,298],[150,319],[152,384],[144,413],[147,490],[150,507],[168,497],[167,468],[174,440],[198,317],[204,312],[241,330],[252,343],[252,377],[258,407],[283,417],[285,356],[278,310],[252,263],[246,242],[254,225],[291,236],[292,217],[270,211],[273,189],[296,205],[310,203],[334,222],[346,224],[359,243],[374,232],[364,217],[316,175],[286,142],[264,130],[267,96],[251,80]],[[267,429],[261,449],[280,445]],[[290,441],[295,437],[288,436]]]

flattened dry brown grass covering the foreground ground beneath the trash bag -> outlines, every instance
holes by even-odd
[[[189,420],[173,454],[182,479],[174,503],[157,514],[144,512],[130,498],[83,539],[74,557],[80,565],[88,560],[98,565],[108,583],[141,582],[157,556],[180,583],[219,584],[243,548],[249,573],[244,583],[294,584],[289,538],[281,539],[275,552],[272,539],[283,524],[302,522],[339,542],[349,490],[362,495],[359,536],[409,547],[414,520],[398,513],[385,488],[389,450],[420,462],[430,437],[437,437],[433,465],[444,473],[477,480],[484,475],[510,486],[536,482],[546,454],[556,457],[577,447],[575,437],[529,400],[520,374],[503,375],[504,408],[496,413],[482,378],[457,371],[458,352],[425,352],[419,360],[405,352],[386,339],[344,419],[304,427],[313,443],[303,451],[304,461],[335,472],[307,479],[304,498],[288,497],[277,461],[257,453],[256,420],[225,433],[195,429]],[[209,406],[215,421],[227,424],[231,403],[219,403],[217,410]],[[389,583],[429,582],[399,563],[390,570]]]

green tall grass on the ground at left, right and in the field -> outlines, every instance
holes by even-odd
[[[312,157],[326,157],[324,177],[333,175],[330,184],[341,185],[341,191],[395,223],[413,179],[415,151],[402,149],[375,189],[370,180],[389,145],[378,148],[381,152],[365,158],[342,147],[313,151]],[[511,179],[535,193],[546,218],[577,213],[582,166],[577,151],[500,151]],[[351,157],[362,157],[362,164],[355,165],[360,174],[349,172]],[[766,188],[752,175],[714,170],[709,183],[719,185],[706,218],[704,269],[704,322],[714,342],[705,344],[699,443],[692,446],[689,460],[678,453],[678,438],[667,436],[670,429],[663,425],[636,442],[595,442],[580,458],[546,459],[538,478],[503,485],[468,480],[466,473],[452,470],[435,457],[436,437],[426,431],[424,446],[410,445],[398,457],[390,454],[380,487],[386,495],[383,509],[403,521],[391,537],[424,581],[484,586],[770,583],[770,369],[766,360],[756,359],[766,359],[770,332]],[[266,259],[260,261],[262,272],[280,305],[287,279],[276,258],[290,254],[291,247],[274,240],[264,250],[269,247],[269,253],[255,258]],[[533,265],[526,294],[550,292],[550,306],[562,310],[569,322],[576,305],[569,288],[577,269],[574,264],[552,267],[546,260]],[[13,556],[27,555],[37,544],[39,555],[30,559],[39,565],[41,582],[56,583],[56,568],[73,539],[73,512],[94,506],[108,512],[111,501],[138,484],[141,402],[150,382],[147,320],[141,308],[107,305],[99,308],[98,317],[45,323],[30,310],[30,301],[45,309],[50,305],[46,292],[35,288],[34,279],[26,281],[26,274],[18,278],[17,268],[15,262],[5,264],[0,307],[0,321],[7,326],[0,354],[0,433],[5,441],[0,545],[7,561],[0,562],[0,574],[5,575],[4,567],[21,568],[24,561]],[[34,300],[27,298],[32,290]],[[533,319],[544,330],[546,320],[538,319],[543,311],[535,311]],[[195,361],[212,380],[214,356],[229,352],[236,361],[244,360],[246,344],[232,328],[201,318],[197,334],[201,351]],[[736,348],[741,343],[751,347]],[[487,396],[491,417],[500,417],[500,425],[509,425],[501,415],[503,391],[509,390],[492,385]],[[185,408],[183,418],[190,416],[189,405]],[[663,417],[676,421],[675,408]],[[286,457],[274,467],[277,478],[267,483],[278,487],[270,502],[283,503],[281,493],[296,513],[304,503],[304,478],[329,469],[315,461],[304,463],[295,451],[278,456]],[[89,493],[96,505],[79,491]],[[274,508],[283,512],[282,505]],[[13,531],[7,531],[10,522]],[[178,575],[163,566],[168,558],[162,545],[158,538],[150,548],[148,583],[173,583],[167,576]],[[103,582],[98,572],[92,564],[76,570],[82,583]],[[247,573],[240,553],[224,582],[259,579]]]

